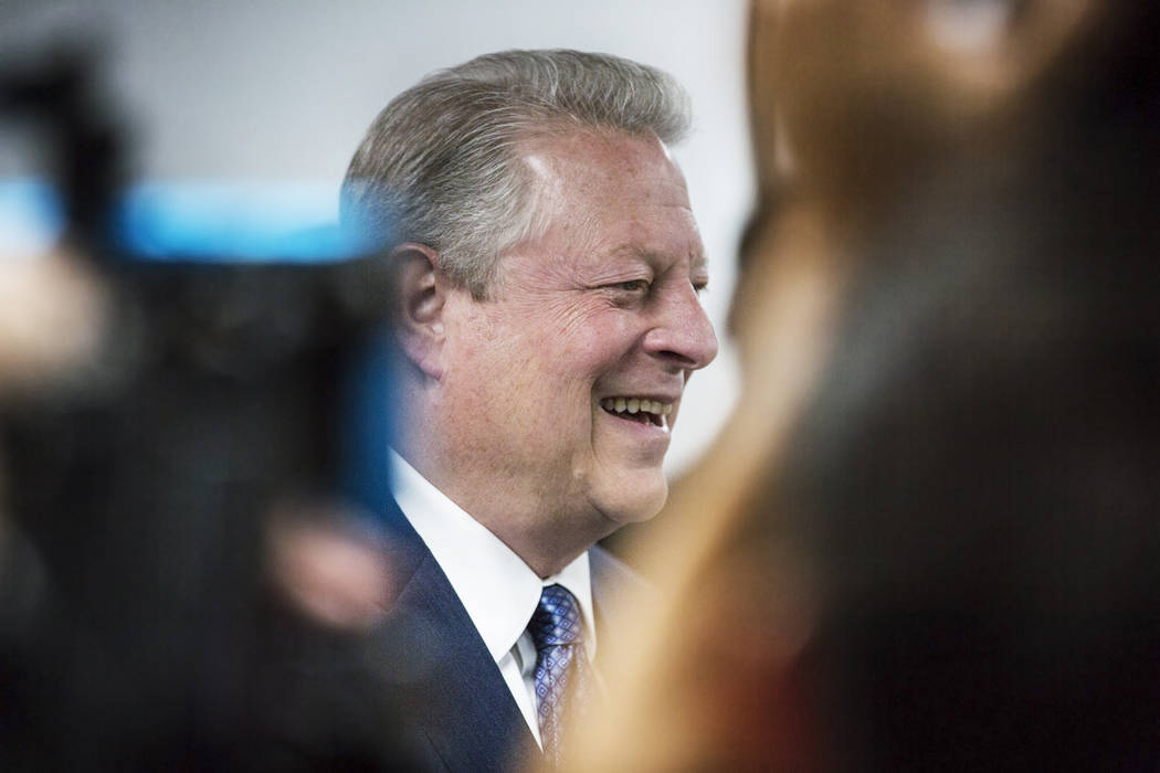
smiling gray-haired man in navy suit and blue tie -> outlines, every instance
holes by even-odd
[[[387,520],[412,646],[384,666],[433,768],[556,759],[599,692],[608,597],[635,578],[593,546],[665,503],[681,393],[717,352],[668,152],[687,126],[651,67],[510,51],[401,94],[350,163],[345,217],[391,234],[398,271]]]

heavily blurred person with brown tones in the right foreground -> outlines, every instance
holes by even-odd
[[[754,2],[749,399],[574,770],[1160,764],[1158,32]]]

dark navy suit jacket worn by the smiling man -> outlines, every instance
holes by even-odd
[[[393,674],[405,728],[433,771],[510,771],[538,761],[539,748],[467,611],[430,550],[390,503],[385,523],[393,570],[380,673]],[[589,550],[596,635],[623,630],[610,599],[645,585],[600,547]],[[597,664],[599,665],[599,664]]]

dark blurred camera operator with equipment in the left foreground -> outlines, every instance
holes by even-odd
[[[385,552],[339,486],[380,261],[132,254],[96,64],[48,46],[0,78],[65,213],[46,254],[0,255],[0,767],[407,767],[367,654]]]

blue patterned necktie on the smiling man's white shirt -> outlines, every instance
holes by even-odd
[[[536,646],[539,739],[544,753],[558,765],[568,708],[580,708],[586,692],[588,658],[580,605],[563,585],[549,585],[539,596],[528,633]]]

